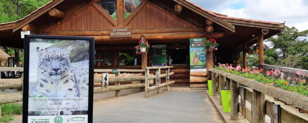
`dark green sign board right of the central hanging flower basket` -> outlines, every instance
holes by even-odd
[[[167,46],[153,45],[152,51],[152,66],[167,66]]]

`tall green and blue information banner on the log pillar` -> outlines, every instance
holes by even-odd
[[[190,71],[206,71],[206,52],[202,44],[206,38],[189,39]]]

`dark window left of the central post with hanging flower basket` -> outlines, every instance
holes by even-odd
[[[119,51],[119,66],[140,66],[141,55],[136,54],[135,50]]]

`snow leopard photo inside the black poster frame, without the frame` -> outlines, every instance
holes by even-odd
[[[30,116],[88,112],[89,41],[30,39]]]

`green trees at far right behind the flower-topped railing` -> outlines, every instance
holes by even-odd
[[[287,27],[277,35],[265,40],[271,48],[264,48],[264,63],[268,65],[308,69],[308,30],[298,31]],[[248,55],[248,66],[258,66],[258,54]]]

